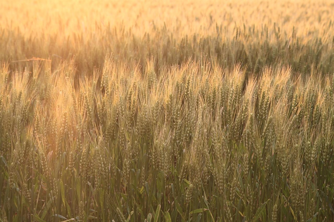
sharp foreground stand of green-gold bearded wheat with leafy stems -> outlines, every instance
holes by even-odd
[[[333,219],[333,75],[152,64],[2,67],[2,220]]]

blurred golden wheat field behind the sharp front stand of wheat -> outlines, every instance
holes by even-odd
[[[2,1],[0,60],[73,59],[101,67],[106,53],[156,69],[216,57],[249,71],[289,64],[333,71],[330,1]],[[25,66],[25,63],[15,63]],[[11,66],[15,66],[11,64]]]

